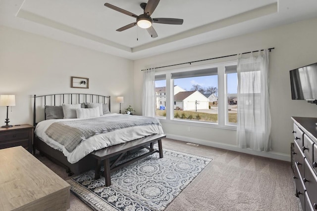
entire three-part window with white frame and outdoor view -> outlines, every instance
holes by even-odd
[[[226,62],[157,73],[157,98],[165,97],[157,102],[162,101],[166,109],[157,105],[157,117],[232,128],[237,122],[236,66],[236,62]],[[163,88],[166,84],[168,91]]]

